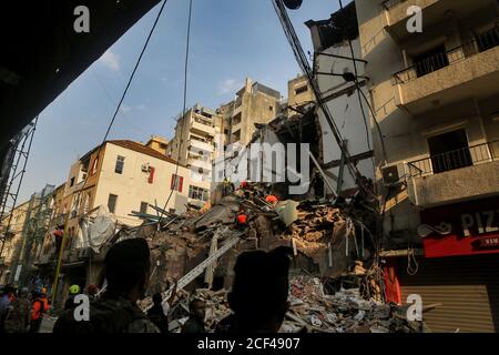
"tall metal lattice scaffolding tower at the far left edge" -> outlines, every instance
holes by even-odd
[[[0,183],[0,255],[3,253],[7,236],[10,232],[13,209],[16,207],[19,190],[24,178],[26,165],[31,151],[34,131],[37,130],[38,116],[28,124],[11,141],[9,152],[7,153],[3,171],[1,172]],[[7,219],[7,223],[3,221]]]

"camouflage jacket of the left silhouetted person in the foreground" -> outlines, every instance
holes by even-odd
[[[90,305],[90,320],[75,321],[77,310],[65,311],[55,322],[53,333],[160,333],[147,316],[125,298],[100,298]]]

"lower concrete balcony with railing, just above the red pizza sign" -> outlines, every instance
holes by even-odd
[[[419,207],[499,194],[499,141],[407,163],[406,176]]]

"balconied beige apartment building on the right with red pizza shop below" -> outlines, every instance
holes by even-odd
[[[442,304],[424,315],[432,331],[497,332],[498,2],[355,2],[386,146],[383,154],[373,134],[386,197],[385,255],[404,256],[387,258],[401,298]],[[413,30],[413,6],[421,32]]]

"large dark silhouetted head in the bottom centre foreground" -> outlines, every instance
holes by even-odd
[[[234,311],[237,332],[278,332],[289,307],[289,248],[241,254],[228,304]]]

